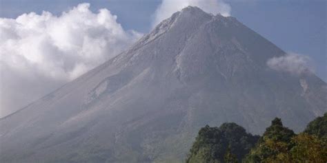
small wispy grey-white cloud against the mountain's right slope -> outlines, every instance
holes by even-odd
[[[308,56],[295,53],[270,58],[267,61],[267,65],[271,69],[292,74],[302,74],[308,71],[314,71],[312,61]]]

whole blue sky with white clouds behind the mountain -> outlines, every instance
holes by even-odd
[[[0,118],[116,56],[188,5],[237,18],[288,52],[284,63],[310,61],[327,81],[326,0],[0,0]]]

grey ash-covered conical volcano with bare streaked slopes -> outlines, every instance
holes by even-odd
[[[327,111],[314,74],[277,72],[285,53],[235,18],[188,7],[129,50],[0,120],[0,162],[172,162],[200,127],[300,131]],[[304,89],[305,85],[305,89]]]

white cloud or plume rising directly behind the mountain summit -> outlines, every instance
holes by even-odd
[[[153,25],[157,25],[162,20],[167,19],[173,13],[186,8],[187,6],[197,6],[205,12],[218,14],[224,17],[230,16],[230,5],[224,0],[162,0],[155,12]]]

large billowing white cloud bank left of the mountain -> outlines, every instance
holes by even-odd
[[[0,117],[27,105],[103,61],[141,34],[125,31],[109,10],[81,3],[59,17],[50,12],[0,18]]]

